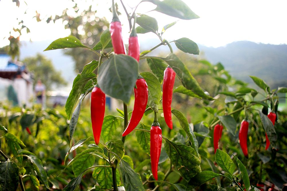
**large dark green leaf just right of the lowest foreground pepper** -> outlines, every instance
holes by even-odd
[[[200,158],[192,147],[177,144],[166,139],[164,145],[171,163],[178,169],[185,180],[190,180],[197,173],[201,172]]]

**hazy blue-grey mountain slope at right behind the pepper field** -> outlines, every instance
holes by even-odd
[[[287,45],[239,41],[219,48],[199,45],[199,50],[206,60],[221,62],[237,79],[252,82],[251,75],[262,78],[272,88],[287,86]]]

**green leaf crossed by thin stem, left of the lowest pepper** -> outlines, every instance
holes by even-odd
[[[143,123],[139,123],[137,125],[139,129],[150,130],[150,126],[144,125]],[[137,136],[137,142],[141,146],[141,148],[150,155],[150,133],[145,131],[136,131],[135,135]]]

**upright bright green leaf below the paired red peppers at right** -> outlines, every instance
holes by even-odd
[[[215,153],[215,161],[225,172],[228,172],[230,175],[233,174],[235,165],[227,153],[217,149]]]

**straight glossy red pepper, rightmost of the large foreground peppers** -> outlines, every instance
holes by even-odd
[[[166,125],[172,129],[171,102],[172,89],[175,80],[175,72],[169,66],[164,70],[162,84],[162,109]]]

